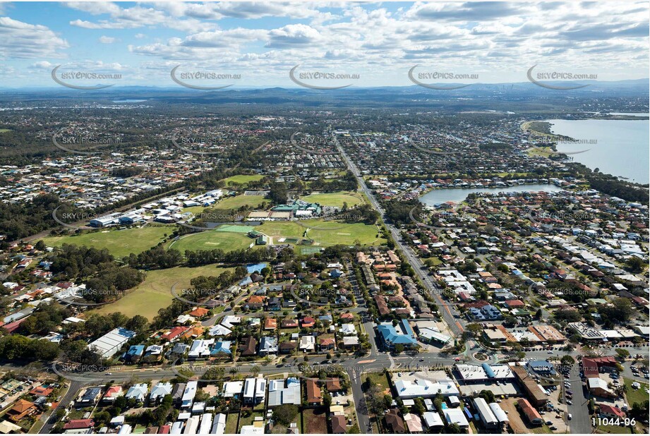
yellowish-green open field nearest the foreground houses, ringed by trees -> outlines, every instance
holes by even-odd
[[[147,272],[147,278],[132,291],[120,298],[115,303],[103,305],[95,310],[97,313],[107,314],[121,312],[128,317],[143,315],[152,320],[158,310],[171,304],[174,296],[171,295],[171,286],[176,284],[176,293],[181,295],[182,289],[191,287],[190,280],[198,276],[218,276],[224,271],[233,268],[216,268],[215,265],[203,267],[174,267],[167,270],[152,270]]]

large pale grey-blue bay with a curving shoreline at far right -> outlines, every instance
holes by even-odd
[[[650,174],[649,120],[547,120],[551,131],[570,136],[579,143],[559,143],[560,152],[584,153],[570,155],[590,169],[627,178],[635,183],[648,183]]]

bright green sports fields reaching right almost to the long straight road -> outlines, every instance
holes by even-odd
[[[255,227],[255,230],[267,236],[272,236],[274,243],[277,243],[277,238],[281,237],[303,238],[305,231],[307,231],[307,237],[313,239],[320,246],[351,245],[357,239],[364,246],[380,245],[386,242],[385,239],[377,237],[379,233],[377,226],[368,226],[361,223],[327,222],[323,219],[307,219],[300,223],[296,224],[296,222],[288,221],[265,222],[261,226]],[[318,229],[314,229],[314,227]]]

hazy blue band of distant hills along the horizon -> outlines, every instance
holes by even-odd
[[[113,86],[102,90],[73,90],[66,87],[0,88],[0,101],[35,102],[47,99],[92,99],[114,101],[143,99],[147,102],[169,104],[287,104],[293,107],[428,107],[443,103],[449,109],[507,110],[505,102],[522,104],[554,104],[564,102],[571,107],[574,99],[594,97],[646,98],[650,91],[649,79],[618,81],[550,81],[544,85],[572,87],[572,90],[553,90],[531,82],[476,83],[456,90],[431,90],[419,85],[404,87],[347,87],[340,90],[312,90],[308,88],[235,88],[223,90],[192,90],[183,87]],[[454,84],[432,84],[452,87]],[[457,104],[453,104],[456,102]],[[453,108],[453,106],[457,106]],[[565,104],[560,104],[566,107]]]

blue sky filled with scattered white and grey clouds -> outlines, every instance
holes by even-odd
[[[506,83],[531,67],[540,80],[639,79],[649,12],[607,1],[0,3],[0,87],[60,86],[56,66],[62,83],[90,87]]]

